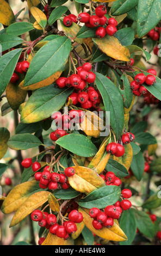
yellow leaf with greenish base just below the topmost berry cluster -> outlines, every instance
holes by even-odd
[[[130,53],[127,47],[122,46],[117,38],[106,35],[104,38],[92,38],[100,50],[117,60],[129,62]]]

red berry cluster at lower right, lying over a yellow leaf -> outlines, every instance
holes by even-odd
[[[123,199],[121,202],[117,201],[114,205],[108,205],[104,210],[98,208],[91,208],[89,215],[94,218],[92,225],[95,229],[102,229],[103,227],[111,228],[114,225],[114,220],[118,220],[122,214],[122,210],[131,208],[132,203],[127,199],[132,196],[131,190],[125,188],[121,191]]]

